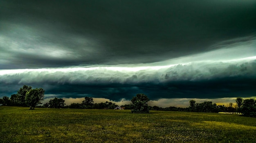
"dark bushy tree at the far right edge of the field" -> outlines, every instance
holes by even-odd
[[[254,99],[243,100],[241,113],[247,117],[256,117],[256,100]]]

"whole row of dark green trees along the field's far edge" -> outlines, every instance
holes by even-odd
[[[41,108],[80,108],[80,109],[114,109],[118,105],[112,102],[101,102],[94,103],[93,98],[85,97],[85,100],[79,103],[71,103],[65,106],[65,100],[62,98],[54,98],[49,100],[46,104],[42,104],[44,98],[44,90],[42,88],[32,89],[32,87],[24,85],[17,94],[11,95],[11,97],[4,96],[0,98],[0,104],[4,106],[22,106],[30,107],[34,109],[35,107]],[[196,103],[195,100],[189,101],[189,107],[158,107],[158,106],[148,106],[150,99],[139,93],[132,98],[131,104],[122,105],[123,108],[131,110],[132,113],[149,113],[150,110],[155,111],[185,111],[185,112],[205,112],[205,113],[219,113],[219,112],[229,112],[229,113],[242,113],[242,115],[247,117],[256,117],[256,100],[236,98],[236,104],[229,103],[228,105],[217,105],[211,101],[205,101],[202,103]]]

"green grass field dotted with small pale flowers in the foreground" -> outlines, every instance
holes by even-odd
[[[256,118],[0,106],[0,143],[255,143]]]

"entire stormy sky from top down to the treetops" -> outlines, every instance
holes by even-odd
[[[255,0],[0,0],[0,98],[256,99]]]

